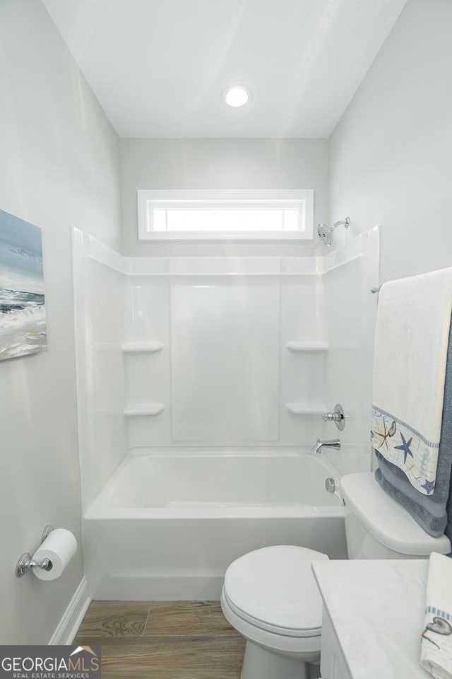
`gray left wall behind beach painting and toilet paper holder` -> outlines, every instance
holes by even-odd
[[[49,350],[0,363],[0,643],[45,644],[83,576],[16,579],[46,523],[81,543],[71,227],[119,247],[119,141],[40,0],[0,3],[0,208],[42,227]]]

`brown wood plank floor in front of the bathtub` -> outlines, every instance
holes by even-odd
[[[93,601],[74,643],[102,647],[102,679],[239,679],[245,646],[218,601]]]

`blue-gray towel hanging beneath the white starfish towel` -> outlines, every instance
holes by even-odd
[[[439,441],[438,467],[434,492],[422,495],[412,487],[405,473],[391,464],[379,451],[375,478],[389,495],[411,514],[429,533],[438,538],[445,533],[452,542],[452,324],[444,383],[443,415]]]

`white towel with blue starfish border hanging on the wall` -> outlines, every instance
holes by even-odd
[[[381,286],[372,445],[424,495],[436,482],[451,311],[452,268]]]

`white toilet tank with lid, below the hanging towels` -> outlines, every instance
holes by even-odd
[[[425,533],[371,472],[344,476],[340,490],[349,559],[427,559],[432,552],[451,552],[446,535]]]

